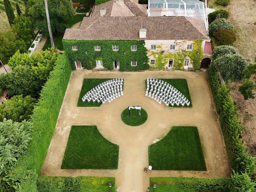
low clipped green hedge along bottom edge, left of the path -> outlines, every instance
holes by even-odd
[[[108,183],[115,191],[113,177],[53,177],[40,176],[37,181],[38,192],[108,192]]]

